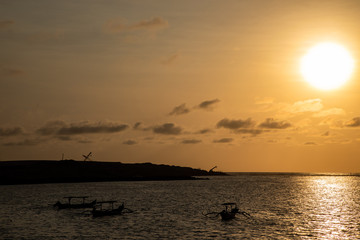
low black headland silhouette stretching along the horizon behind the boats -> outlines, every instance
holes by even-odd
[[[198,176],[222,172],[152,163],[95,162],[75,160],[28,160],[0,162],[0,184],[71,183],[204,179]],[[206,179],[206,178],[205,178]]]

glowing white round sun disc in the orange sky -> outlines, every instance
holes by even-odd
[[[312,47],[301,59],[300,71],[306,81],[321,90],[342,86],[354,70],[354,60],[341,45],[331,42]]]

